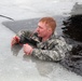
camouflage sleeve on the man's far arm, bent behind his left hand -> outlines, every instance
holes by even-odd
[[[24,42],[26,40],[26,37],[30,37],[31,36],[31,31],[29,30],[20,30],[17,32],[16,36],[18,36],[20,38],[19,42]]]

